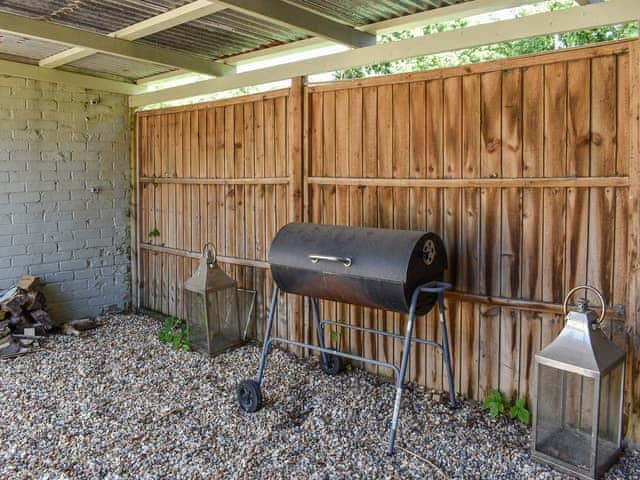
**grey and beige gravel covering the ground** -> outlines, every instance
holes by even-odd
[[[208,360],[159,343],[159,325],[114,316],[0,361],[0,478],[568,478],[531,461],[528,429],[418,388],[397,445],[421,458],[387,457],[392,385],[359,370],[329,377],[279,350],[265,406],[241,413],[236,384],[255,374],[259,348]],[[640,452],[606,478],[640,479]]]

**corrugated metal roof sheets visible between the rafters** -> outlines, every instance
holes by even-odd
[[[107,34],[141,22],[193,0],[0,0],[0,11]],[[365,25],[470,0],[286,0],[329,18]],[[225,9],[213,15],[158,32],[136,42],[172,48],[191,55],[221,59],[308,38],[304,32]],[[0,54],[39,60],[64,46],[0,37]],[[170,71],[161,65],[96,54],[65,68],[101,76],[139,79]]]

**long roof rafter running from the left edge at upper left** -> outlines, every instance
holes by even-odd
[[[233,67],[220,62],[11,13],[0,13],[0,30],[207,75],[221,76],[234,72]]]

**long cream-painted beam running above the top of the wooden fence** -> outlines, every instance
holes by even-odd
[[[520,40],[538,35],[583,30],[640,18],[637,0],[611,0],[575,9],[540,13],[423,37],[363,47],[324,57],[287,63],[133,96],[132,107],[205,95],[233,88],[275,82],[296,76],[342,70],[350,67],[451,52],[463,48]]]

